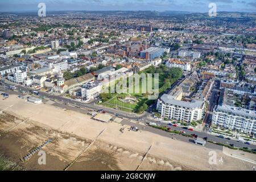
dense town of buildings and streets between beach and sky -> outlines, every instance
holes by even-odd
[[[2,98],[29,94],[34,104],[88,108],[98,121],[133,119],[255,153],[255,14],[228,14],[2,13]],[[158,75],[156,98],[142,75],[147,84]],[[110,92],[124,80],[133,84]]]

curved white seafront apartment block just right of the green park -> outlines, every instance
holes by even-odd
[[[156,109],[161,113],[162,118],[174,119],[176,121],[199,121],[204,116],[204,102],[192,100],[191,102],[181,101],[182,91],[173,95],[163,94],[159,98]]]

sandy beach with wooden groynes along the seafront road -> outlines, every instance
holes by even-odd
[[[211,165],[209,148],[129,131],[130,126],[101,123],[50,104],[30,104],[26,97],[10,95],[0,100],[0,109],[0,151],[27,170],[63,170],[77,156],[68,170],[252,170],[254,166],[221,150],[216,150],[217,163]],[[52,142],[43,147],[46,165],[38,164],[38,155],[20,162],[21,156],[49,138]]]

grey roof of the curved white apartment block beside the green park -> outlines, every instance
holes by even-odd
[[[191,102],[174,100],[174,97],[168,94],[163,94],[163,96],[160,97],[160,100],[162,100],[165,104],[187,107],[191,109],[196,107],[200,108],[201,106],[203,106],[203,103],[204,103],[203,101],[197,101],[197,100],[192,100]]]

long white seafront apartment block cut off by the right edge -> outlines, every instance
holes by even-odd
[[[213,111],[212,123],[229,130],[255,135],[256,111],[228,105],[218,105]]]

